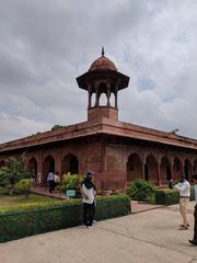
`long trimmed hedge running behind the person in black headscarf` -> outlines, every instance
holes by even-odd
[[[130,199],[126,195],[97,199],[97,220],[130,214]],[[81,199],[19,205],[0,209],[0,242],[20,239],[36,233],[80,225]]]

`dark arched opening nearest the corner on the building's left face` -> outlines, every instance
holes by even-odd
[[[72,153],[67,155],[61,161],[61,174],[78,174],[79,161]]]

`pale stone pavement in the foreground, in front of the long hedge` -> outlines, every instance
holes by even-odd
[[[194,202],[188,217],[193,226]],[[177,230],[178,205],[0,244],[2,263],[195,263],[189,230]]]

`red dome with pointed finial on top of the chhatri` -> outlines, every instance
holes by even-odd
[[[102,56],[93,61],[89,71],[108,70],[108,69],[117,71],[115,64],[111,59],[105,57],[104,47],[102,47]]]

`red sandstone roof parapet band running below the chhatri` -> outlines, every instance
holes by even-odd
[[[0,152],[46,145],[56,141],[63,141],[79,137],[86,137],[97,134],[121,136],[126,138],[153,141],[197,150],[197,140],[195,139],[186,138],[179,135],[175,135],[173,133],[165,133],[130,123],[124,123],[103,117],[101,122],[84,122],[73,124],[58,128],[57,130],[37,133],[32,136],[1,144]]]

